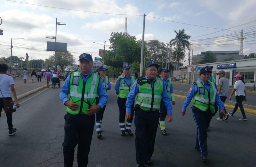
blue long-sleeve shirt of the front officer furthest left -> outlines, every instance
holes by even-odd
[[[84,80],[84,82],[87,81],[87,79],[91,76],[91,73],[87,76],[87,77],[84,77],[84,75],[82,74],[82,72],[80,71],[81,73],[81,77],[82,79]],[[66,101],[68,101],[68,95],[70,94],[70,75],[66,78],[66,81],[65,83],[62,85],[61,87],[61,90],[59,92],[59,97],[60,97],[60,100],[62,101],[63,104],[65,104]],[[97,95],[99,95],[99,106],[101,108],[103,108],[104,105],[106,105],[106,101],[108,99],[108,95],[106,94],[106,90],[105,90],[105,87],[103,85],[103,81],[100,79],[100,83],[99,83],[99,86],[98,86],[98,90],[97,90]]]

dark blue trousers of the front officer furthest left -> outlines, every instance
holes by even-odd
[[[93,136],[95,116],[87,116],[85,114],[72,115],[67,113],[64,118],[66,120],[64,126],[65,136],[62,144],[64,166],[73,166],[75,147],[78,144],[78,167],[86,167],[88,164],[91,137]]]

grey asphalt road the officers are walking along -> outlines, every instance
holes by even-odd
[[[176,86],[176,85],[175,85]],[[0,166],[59,167],[63,166],[62,142],[64,137],[65,106],[59,101],[59,88],[43,89],[40,93],[20,100],[21,107],[13,114],[17,128],[8,136],[6,116],[0,119]],[[88,167],[133,167],[135,136],[119,133],[117,97],[114,89],[108,91],[109,100],[102,123],[102,139],[93,135]],[[169,166],[255,166],[256,126],[255,116],[247,114],[247,121],[239,121],[238,112],[228,121],[215,118],[208,133],[209,158],[203,164],[194,150],[196,126],[188,107],[181,116],[184,99],[176,98],[174,120],[167,123],[168,136],[157,132],[152,161],[155,167]],[[216,117],[216,116],[215,116]],[[134,132],[132,124],[132,131]],[[75,155],[76,156],[76,155]],[[74,166],[77,166],[75,159]]]

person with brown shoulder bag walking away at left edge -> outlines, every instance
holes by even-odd
[[[19,107],[19,103],[14,88],[15,83],[13,78],[5,74],[7,69],[8,66],[5,63],[0,64],[0,112],[2,112],[2,108],[4,108],[9,129],[8,135],[12,136],[17,131],[16,128],[13,128],[12,113],[16,111],[16,107]],[[15,100],[14,102],[10,95],[10,88]]]

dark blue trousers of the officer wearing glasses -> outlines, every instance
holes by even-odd
[[[134,115],[136,161],[137,164],[147,164],[154,152],[160,113],[146,112],[138,108]]]

